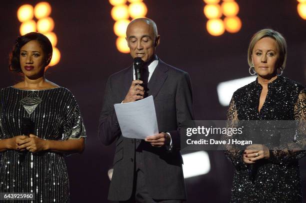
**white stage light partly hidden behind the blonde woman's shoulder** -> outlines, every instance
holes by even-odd
[[[248,83],[251,83],[255,79],[256,79],[256,76],[249,76],[249,77],[239,78],[235,80],[220,82],[217,85],[219,103],[222,106],[228,106],[231,96],[234,93],[234,91],[236,91],[240,87],[243,87],[244,85],[247,85]]]

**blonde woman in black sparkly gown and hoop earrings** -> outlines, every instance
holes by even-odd
[[[232,203],[302,202],[298,161],[306,156],[306,90],[302,84],[282,76],[286,54],[285,39],[272,29],[258,31],[249,43],[249,72],[257,74],[257,79],[233,93],[228,123],[264,121],[262,123],[268,125],[269,121],[295,120],[298,128],[295,135],[288,136],[294,136],[289,139],[292,143],[283,143],[285,148],[282,149],[268,148],[270,142],[261,142],[244,150],[229,148],[225,151],[235,168]],[[265,140],[277,138],[278,134],[269,132],[265,129],[251,133]],[[289,148],[293,143],[299,148]]]

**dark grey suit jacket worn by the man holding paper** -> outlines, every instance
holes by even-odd
[[[113,175],[108,200],[130,198],[134,179],[135,140],[122,137],[113,104],[124,100],[133,80],[133,66],[114,73],[106,83],[99,119],[99,137],[104,145],[116,142]],[[153,199],[185,200],[185,186],[180,155],[179,126],[193,120],[192,90],[188,73],[158,61],[150,81],[149,95],[154,98],[158,130],[171,135],[173,147],[152,147],[143,142],[146,187]]]

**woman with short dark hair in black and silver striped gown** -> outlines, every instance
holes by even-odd
[[[51,57],[50,41],[38,32],[18,37],[10,54],[9,70],[23,80],[0,90],[0,193],[66,203],[64,156],[83,151],[85,129],[71,92],[44,78]]]

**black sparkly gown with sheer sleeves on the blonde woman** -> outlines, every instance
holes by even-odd
[[[259,113],[261,89],[256,79],[236,90],[229,105],[227,120],[305,121],[306,91],[303,85],[278,76],[268,84],[268,93]],[[270,158],[261,160],[257,166],[253,181],[249,179],[242,154],[242,150],[225,151],[225,156],[235,168],[231,203],[302,202],[298,161],[306,156],[306,151],[289,154],[270,151]]]

